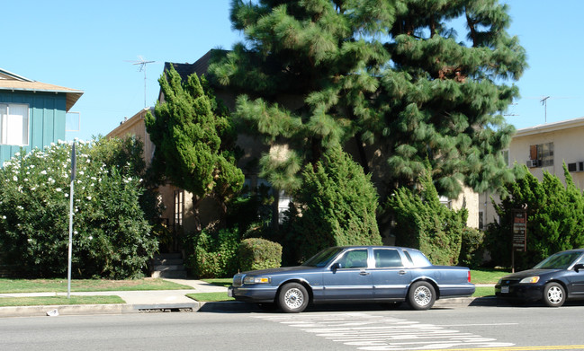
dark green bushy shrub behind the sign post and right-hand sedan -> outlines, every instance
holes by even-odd
[[[515,253],[517,267],[531,268],[554,252],[584,246],[584,197],[565,163],[563,169],[565,187],[547,171],[539,181],[526,170],[524,178],[508,185],[508,197],[495,205],[499,223],[490,225],[485,238],[493,264],[511,266],[513,209],[525,205],[527,251]]]

